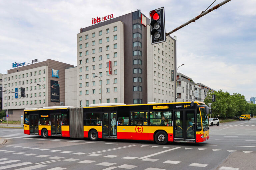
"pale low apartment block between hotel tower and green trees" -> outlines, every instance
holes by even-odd
[[[195,83],[192,78],[177,73],[177,102],[187,101],[202,101],[206,99],[206,96],[210,92],[215,90],[205,86],[201,83]]]

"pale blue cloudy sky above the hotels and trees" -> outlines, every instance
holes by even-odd
[[[0,73],[13,62],[53,59],[76,66],[76,34],[92,18],[165,8],[170,32],[201,14],[214,0],[0,0]],[[221,3],[216,0],[211,6]],[[157,4],[155,4],[157,2]],[[210,8],[211,8],[210,7]],[[178,72],[214,90],[256,96],[256,1],[231,0],[172,33]]]

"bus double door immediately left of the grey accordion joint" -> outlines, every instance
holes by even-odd
[[[51,135],[61,135],[61,114],[51,114]]]

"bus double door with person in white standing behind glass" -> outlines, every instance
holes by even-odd
[[[102,113],[102,137],[116,138],[116,113]]]

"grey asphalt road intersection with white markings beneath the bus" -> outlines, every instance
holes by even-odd
[[[43,139],[6,128],[0,138],[1,170],[255,170],[256,119],[210,127],[204,143]]]

